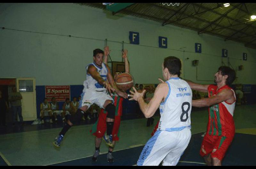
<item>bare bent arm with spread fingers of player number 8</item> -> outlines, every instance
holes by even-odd
[[[166,83],[160,83],[156,87],[154,96],[148,104],[143,99],[143,96],[144,96],[146,90],[143,90],[142,93],[137,92],[135,87],[133,87],[133,90],[134,90],[134,92],[131,91],[133,96],[129,100],[137,100],[139,102],[140,109],[143,112],[143,114],[145,115],[145,117],[149,118],[155,114],[155,112],[156,112],[157,108],[160,106],[162,100],[164,98],[166,98],[168,91],[169,91],[169,87]]]

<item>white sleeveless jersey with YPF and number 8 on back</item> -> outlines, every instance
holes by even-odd
[[[179,77],[172,77],[166,83],[169,86],[169,92],[159,107],[161,118],[158,129],[180,131],[186,127],[190,128],[191,88]]]

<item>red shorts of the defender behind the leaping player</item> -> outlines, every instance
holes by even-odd
[[[98,120],[96,121],[96,123],[93,124],[92,129],[90,130],[90,132],[97,138],[103,137],[107,130],[106,119],[107,119],[107,113],[103,113],[103,109],[102,109],[100,111]],[[121,116],[120,115],[115,116],[114,126],[112,130],[113,141],[119,140],[118,137],[119,137],[120,122],[121,122]]]

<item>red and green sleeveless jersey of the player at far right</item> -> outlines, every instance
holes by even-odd
[[[217,90],[217,85],[209,85],[209,98],[218,94],[224,89],[232,90],[236,99],[236,94],[228,85]],[[207,133],[212,136],[231,136],[235,134],[235,123],[233,119],[236,100],[233,103],[223,101],[209,107],[209,120],[207,124]]]

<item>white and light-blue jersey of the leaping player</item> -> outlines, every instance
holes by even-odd
[[[98,67],[96,64],[91,63],[86,66],[86,71],[88,70],[88,67],[90,65],[93,65],[97,68],[97,71],[99,72],[100,76],[102,77],[103,80],[107,80],[107,74],[108,74],[108,69],[104,63],[101,64],[101,68]],[[100,85],[94,78],[92,78],[91,75],[86,74],[86,80],[84,81],[84,90],[85,92],[86,89],[92,89],[96,91],[103,91],[107,90],[103,85]]]

